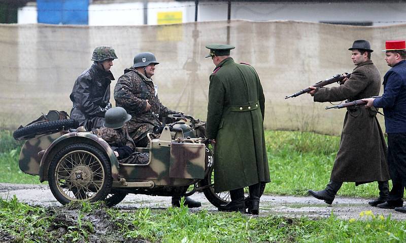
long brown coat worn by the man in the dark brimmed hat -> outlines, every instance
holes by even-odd
[[[344,85],[321,88],[316,102],[358,100],[379,95],[381,74],[371,60],[356,66]],[[331,180],[371,182],[389,180],[387,145],[376,112],[358,107],[347,110]]]

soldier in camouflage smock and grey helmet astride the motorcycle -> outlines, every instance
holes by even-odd
[[[152,133],[154,126],[160,126],[162,118],[179,113],[162,105],[158,98],[158,88],[152,76],[155,66],[159,64],[150,52],[139,53],[134,57],[133,65],[124,70],[114,88],[116,105],[123,107],[132,118],[128,121],[128,133],[137,147],[147,147],[147,133]],[[172,198],[172,205],[179,207],[180,197]],[[200,207],[198,201],[188,197],[185,205],[189,208]]]

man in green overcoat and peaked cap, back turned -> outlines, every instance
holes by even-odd
[[[263,118],[265,97],[255,69],[235,63],[230,45],[211,44],[207,136],[215,143],[214,189],[230,191],[231,202],[219,211],[259,213],[260,183],[270,182]],[[244,187],[249,186],[248,205]]]

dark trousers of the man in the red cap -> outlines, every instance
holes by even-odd
[[[388,166],[393,185],[388,201],[403,201],[406,186],[406,133],[388,133]]]

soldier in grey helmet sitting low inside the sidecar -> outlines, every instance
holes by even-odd
[[[92,131],[111,146],[119,160],[128,157],[136,148],[125,126],[129,119],[131,115],[124,108],[114,107],[106,111],[104,127]]]

